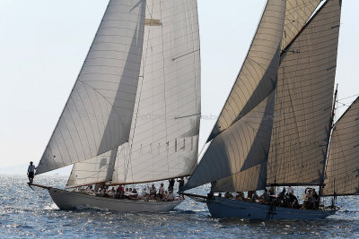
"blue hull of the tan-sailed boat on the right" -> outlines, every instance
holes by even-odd
[[[336,210],[288,209],[248,201],[236,201],[215,197],[206,202],[214,218],[247,218],[274,220],[312,220],[323,219],[336,213]]]

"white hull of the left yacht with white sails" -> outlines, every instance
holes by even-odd
[[[87,195],[81,192],[68,192],[48,188],[52,200],[59,209],[110,209],[120,212],[166,212],[171,211],[183,200],[178,201],[142,201],[118,200]]]

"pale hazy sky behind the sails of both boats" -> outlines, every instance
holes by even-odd
[[[0,167],[38,164],[108,2],[0,0]],[[202,114],[213,115],[201,122],[202,148],[241,69],[265,0],[197,2]],[[339,99],[359,94],[357,9],[358,0],[343,0]]]

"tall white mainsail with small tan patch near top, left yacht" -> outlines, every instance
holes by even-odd
[[[197,1],[148,1],[135,111],[112,183],[192,173],[200,119],[199,50]]]

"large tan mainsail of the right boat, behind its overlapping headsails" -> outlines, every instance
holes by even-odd
[[[328,149],[340,1],[323,4],[281,55],[267,184],[320,184]]]

